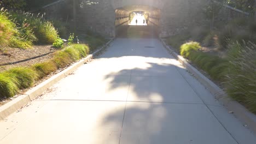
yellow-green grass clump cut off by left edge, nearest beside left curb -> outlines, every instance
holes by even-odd
[[[0,98],[13,97],[19,88],[15,80],[11,79],[7,74],[0,73]]]

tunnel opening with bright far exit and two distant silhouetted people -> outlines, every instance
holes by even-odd
[[[157,38],[159,23],[157,8],[131,5],[115,10],[115,35],[119,38]]]

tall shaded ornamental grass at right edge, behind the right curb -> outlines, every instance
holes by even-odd
[[[240,47],[238,49],[239,56],[229,56],[233,58],[229,62],[226,76],[227,92],[232,98],[256,113],[256,45],[248,43],[238,46]],[[232,49],[232,47],[230,48]]]

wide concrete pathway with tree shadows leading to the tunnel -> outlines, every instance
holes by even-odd
[[[0,143],[255,144],[157,39],[117,39],[0,122]]]

